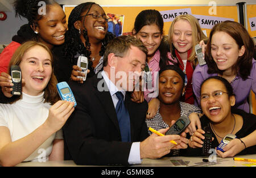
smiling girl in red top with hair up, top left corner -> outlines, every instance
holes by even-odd
[[[13,83],[11,83],[10,75],[6,72],[15,50],[22,43],[30,40],[39,41],[52,50],[55,46],[63,44],[65,40],[67,23],[63,9],[54,0],[47,0],[44,1],[46,14],[39,14],[40,8],[42,8],[39,2],[39,0],[17,0],[14,2],[16,16],[23,16],[28,20],[28,24],[20,27],[17,35],[13,37],[13,41],[0,54],[0,86],[3,94],[9,98],[12,96],[10,86],[13,86]],[[0,96],[2,100],[3,95]]]

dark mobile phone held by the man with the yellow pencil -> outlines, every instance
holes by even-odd
[[[190,120],[187,116],[182,115],[166,132],[166,135],[180,135],[185,128],[190,124]]]

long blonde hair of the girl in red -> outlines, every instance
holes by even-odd
[[[197,44],[200,43],[201,40],[207,41],[208,38],[207,36],[204,35],[198,20],[193,16],[193,15],[179,15],[177,16],[174,21],[171,24],[171,27],[169,29],[169,34],[168,34],[168,41],[170,44],[170,50],[171,50],[171,54],[172,57],[175,58],[175,47],[172,43],[172,35],[174,33],[174,24],[179,21],[179,20],[187,20],[187,22],[189,24],[191,24],[191,28],[192,28],[192,52],[190,54],[190,56],[188,57],[188,61],[190,61],[193,65],[193,67],[195,67],[198,63],[198,61],[196,60],[196,52],[195,52],[195,46]]]

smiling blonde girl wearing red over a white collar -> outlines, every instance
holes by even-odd
[[[185,74],[185,99],[189,104],[194,104],[192,91],[192,75],[198,61],[195,46],[201,40],[207,40],[198,20],[192,15],[179,15],[169,29],[169,44],[172,57],[177,59],[179,67]]]

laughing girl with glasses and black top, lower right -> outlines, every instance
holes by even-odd
[[[187,150],[187,154],[201,155],[206,126],[213,135],[212,149],[216,149],[225,135],[236,135],[224,147],[224,152],[216,150],[217,155],[222,158],[237,154],[255,154],[256,116],[234,108],[236,97],[228,80],[218,76],[210,77],[201,84],[200,94],[204,113],[200,122],[203,129],[197,129],[191,136],[189,147],[195,150]]]

